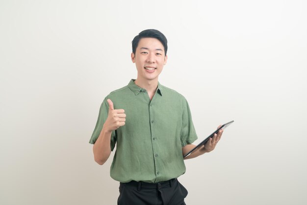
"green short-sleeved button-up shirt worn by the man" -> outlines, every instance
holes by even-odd
[[[108,115],[110,99],[114,109],[125,109],[126,124],[111,134],[111,150],[116,152],[110,169],[121,182],[160,182],[185,172],[182,147],[197,139],[190,108],[185,98],[160,83],[153,99],[130,80],[111,92],[102,102],[90,143],[100,135]]]

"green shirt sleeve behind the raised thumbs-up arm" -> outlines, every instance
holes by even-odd
[[[100,106],[98,120],[97,120],[95,129],[93,131],[93,134],[92,134],[92,137],[91,137],[89,143],[95,144],[95,142],[98,139],[100,132],[102,130],[102,126],[103,126],[104,122],[106,121],[106,118],[108,117],[108,112],[109,112],[109,104],[107,103],[106,99],[104,99],[101,106]],[[112,131],[111,142],[110,142],[111,151],[114,150],[115,143],[116,143],[116,133],[115,133],[115,131]]]

